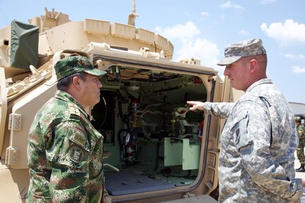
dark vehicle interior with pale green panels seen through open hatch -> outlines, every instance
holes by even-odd
[[[194,74],[110,66],[100,81],[92,124],[104,137],[109,195],[166,190],[198,175],[204,114],[187,100],[207,100]]]

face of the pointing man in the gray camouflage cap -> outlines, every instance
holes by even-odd
[[[242,59],[239,59],[233,64],[226,65],[226,69],[224,69],[224,76],[228,76],[231,86],[236,88],[236,90],[246,91],[248,88],[247,65],[248,63],[245,63]]]

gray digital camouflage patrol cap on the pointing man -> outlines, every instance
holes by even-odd
[[[226,49],[224,50],[224,59],[221,59],[217,65],[226,66],[237,62],[241,57],[251,57],[260,54],[266,54],[262,40],[251,39],[236,42],[226,46]]]

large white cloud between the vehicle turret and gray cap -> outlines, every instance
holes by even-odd
[[[200,30],[194,23],[187,22],[185,25],[179,24],[166,28],[158,27],[155,30],[169,40],[176,38],[180,41],[180,47],[177,47],[175,43],[175,61],[194,57],[201,60],[202,66],[216,68],[220,71],[219,75],[222,75],[223,70],[216,65],[219,56],[217,45],[198,37]]]

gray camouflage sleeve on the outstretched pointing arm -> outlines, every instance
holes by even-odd
[[[234,107],[235,103],[210,103],[205,102],[203,106],[203,110],[207,114],[212,114],[219,118],[226,118],[229,116],[232,108]]]

